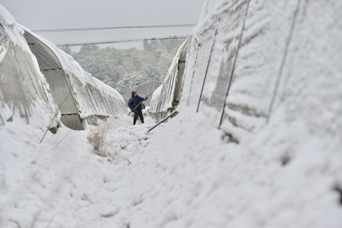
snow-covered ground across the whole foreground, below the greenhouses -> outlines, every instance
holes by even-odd
[[[227,143],[193,108],[146,140],[150,117],[107,120],[106,157],[89,130],[60,128],[39,144],[41,130],[0,128],[0,227],[29,227],[39,212],[35,227],[341,227],[339,140],[310,138],[297,123],[281,137],[270,125]]]

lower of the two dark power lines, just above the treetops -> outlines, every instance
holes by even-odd
[[[154,38],[137,38],[137,39],[125,39],[125,40],[103,40],[103,41],[91,41],[91,42],[73,42],[73,43],[56,43],[56,47],[66,46],[82,46],[92,44],[110,44],[110,43],[130,43],[130,42],[141,42],[144,40],[170,40],[170,39],[183,39],[187,38],[188,35],[180,35],[174,37],[154,37]]]

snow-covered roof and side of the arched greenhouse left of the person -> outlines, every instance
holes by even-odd
[[[82,119],[89,116],[109,116],[126,112],[124,100],[114,88],[92,77],[73,57],[51,42],[31,32],[24,26],[21,27],[26,31],[25,38],[27,42],[32,43],[31,50],[37,56],[43,73],[51,74],[49,70],[57,70],[56,74],[67,75],[67,81],[73,91],[73,98],[67,98],[68,100],[62,108],[64,109],[62,114],[63,112],[74,113],[74,103],[76,103],[76,109]],[[60,72],[58,72],[58,69],[60,69]],[[57,83],[53,86],[59,86],[62,82],[51,81],[50,83]],[[64,93],[56,94],[57,92],[54,96],[58,96],[58,100],[63,100],[64,97],[61,96],[65,96]],[[109,103],[106,101],[108,99],[110,99]],[[113,105],[117,107],[112,107]]]

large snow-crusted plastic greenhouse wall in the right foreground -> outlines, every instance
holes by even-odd
[[[331,126],[314,116],[338,110],[333,100],[341,98],[330,89],[341,80],[341,2],[205,5],[189,44],[180,106],[210,113],[228,134],[262,128],[279,107],[288,119],[305,116],[312,129]],[[313,101],[303,103],[309,97],[325,111],[307,105]]]

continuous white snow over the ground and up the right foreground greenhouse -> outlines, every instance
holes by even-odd
[[[147,135],[148,116],[135,126],[118,115],[85,131],[62,127],[41,144],[42,130],[0,126],[0,227],[29,227],[41,211],[37,227],[53,218],[51,228],[340,228],[342,2],[302,1],[267,116],[296,2],[250,1],[220,129],[212,100],[235,56],[241,24],[225,25],[241,19],[242,0],[206,1],[179,114]],[[225,32],[196,112],[216,28]],[[103,129],[104,146],[94,151],[87,137]]]

